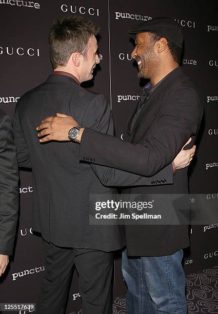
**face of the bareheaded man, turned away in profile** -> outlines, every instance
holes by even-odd
[[[93,77],[93,70],[95,68],[96,63],[100,63],[97,54],[97,41],[95,36],[91,36],[88,41],[88,50],[87,55],[83,57],[81,73],[80,73],[80,81],[85,82],[89,81]]]

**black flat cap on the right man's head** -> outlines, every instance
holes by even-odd
[[[183,33],[181,27],[172,18],[155,17],[149,21],[143,21],[136,25],[135,28],[130,29],[128,33],[154,33],[165,37],[180,48],[183,47]]]

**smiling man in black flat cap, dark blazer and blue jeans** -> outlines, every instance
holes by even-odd
[[[86,125],[75,141],[81,143],[81,161],[150,176],[169,165],[190,137],[186,148],[193,145],[203,108],[179,66],[183,34],[175,21],[154,18],[129,33],[135,35],[132,57],[138,76],[150,83],[128,118],[124,141]],[[69,140],[69,130],[77,125],[72,117],[48,117],[38,127],[43,129],[39,136],[45,136],[41,142]],[[173,184],[167,183],[152,181],[124,193],[188,194],[187,168],[176,171]],[[187,313],[181,261],[183,248],[189,246],[188,225],[126,225],[125,232],[122,269],[128,286],[127,314]]]

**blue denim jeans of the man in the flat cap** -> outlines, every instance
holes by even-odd
[[[126,314],[186,314],[183,250],[161,257],[129,258],[123,251]]]

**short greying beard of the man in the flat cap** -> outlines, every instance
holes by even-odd
[[[160,61],[154,52],[153,45],[150,43],[138,57],[142,61],[141,68],[138,69],[138,77],[149,78],[150,80],[158,71],[160,64]]]

